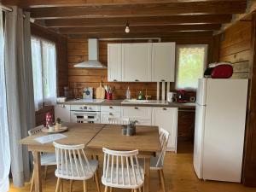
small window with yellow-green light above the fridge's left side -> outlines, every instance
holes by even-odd
[[[207,45],[177,46],[176,88],[196,90],[207,62]]]

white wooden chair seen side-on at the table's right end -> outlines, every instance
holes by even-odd
[[[160,175],[160,183],[163,189],[163,192],[166,192],[165,177],[164,177],[164,160],[166,156],[166,148],[169,139],[170,133],[163,128],[160,128],[160,144],[161,152],[155,157],[150,158],[150,170],[157,170]]]

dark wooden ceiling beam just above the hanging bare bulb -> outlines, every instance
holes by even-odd
[[[45,20],[47,27],[81,27],[81,26],[168,26],[173,24],[222,24],[228,23],[232,15],[172,15],[160,17],[137,18],[83,18]]]

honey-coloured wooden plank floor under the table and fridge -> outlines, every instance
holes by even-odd
[[[192,145],[186,143],[179,150],[179,154],[166,153],[165,160],[165,177],[166,177],[166,189],[169,192],[251,192],[256,189],[246,188],[239,183],[223,183],[223,182],[204,182],[199,180],[194,172],[192,164]],[[102,158],[101,158],[102,160]],[[56,179],[54,176],[54,167],[49,169],[48,177],[43,183],[44,192],[55,191]],[[88,181],[88,191],[96,192],[96,184],[92,181]],[[22,189],[15,188],[12,183],[10,186],[10,192],[28,192],[30,189],[30,183],[26,183],[26,186]],[[64,185],[64,191],[68,191],[68,182]],[[73,192],[82,192],[82,183],[77,181],[73,184]],[[103,191],[103,186],[102,186]],[[114,192],[130,191],[122,189],[114,189]],[[150,191],[161,192],[160,183],[157,172],[151,172],[150,176]]]

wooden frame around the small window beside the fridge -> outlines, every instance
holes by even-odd
[[[175,61],[175,70],[176,70],[176,75],[175,75],[175,89],[176,90],[181,90],[181,88],[177,88],[177,76],[178,76],[178,67],[179,67],[179,51],[178,49],[180,48],[204,48],[205,49],[205,56],[204,56],[204,65],[202,69],[202,77],[203,73],[207,68],[207,62],[208,62],[208,49],[209,45],[208,44],[177,44],[176,46],[176,61]],[[187,91],[196,91],[197,88],[192,88],[192,87],[187,87],[187,88],[182,88],[183,90]]]

